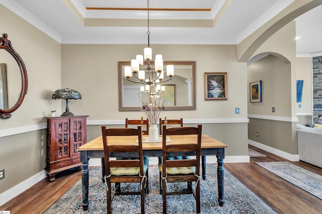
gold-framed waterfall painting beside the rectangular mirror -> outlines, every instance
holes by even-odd
[[[205,73],[205,100],[227,100],[227,72]]]

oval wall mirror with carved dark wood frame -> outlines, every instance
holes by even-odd
[[[28,90],[27,70],[19,54],[4,34],[0,38],[0,117],[9,119],[19,108]]]

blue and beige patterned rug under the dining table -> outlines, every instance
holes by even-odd
[[[207,165],[207,179],[201,180],[201,213],[276,213],[254,192],[241,183],[227,169],[224,170],[224,206],[218,204],[217,166]],[[82,208],[82,179],[79,179],[44,213],[106,213],[106,186],[101,169],[90,169],[89,209]],[[139,185],[123,184],[139,189]],[[186,184],[170,183],[169,190],[185,188]],[[114,189],[114,186],[113,188]],[[167,213],[196,213],[196,202],[191,194],[167,196]],[[113,213],[140,213],[139,195],[115,195]],[[145,213],[162,213],[159,194],[158,169],[149,167],[149,193],[145,199]]]

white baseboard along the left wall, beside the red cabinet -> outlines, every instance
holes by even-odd
[[[23,182],[19,183],[18,185],[8,189],[4,193],[0,194],[0,206],[7,203],[12,198],[16,197],[18,194],[22,193],[29,187],[35,185],[42,179],[46,177],[46,171],[42,170],[41,172],[35,174],[34,176],[24,180]]]

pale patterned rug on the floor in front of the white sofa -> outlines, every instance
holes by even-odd
[[[319,199],[322,199],[321,175],[286,161],[255,163]]]

